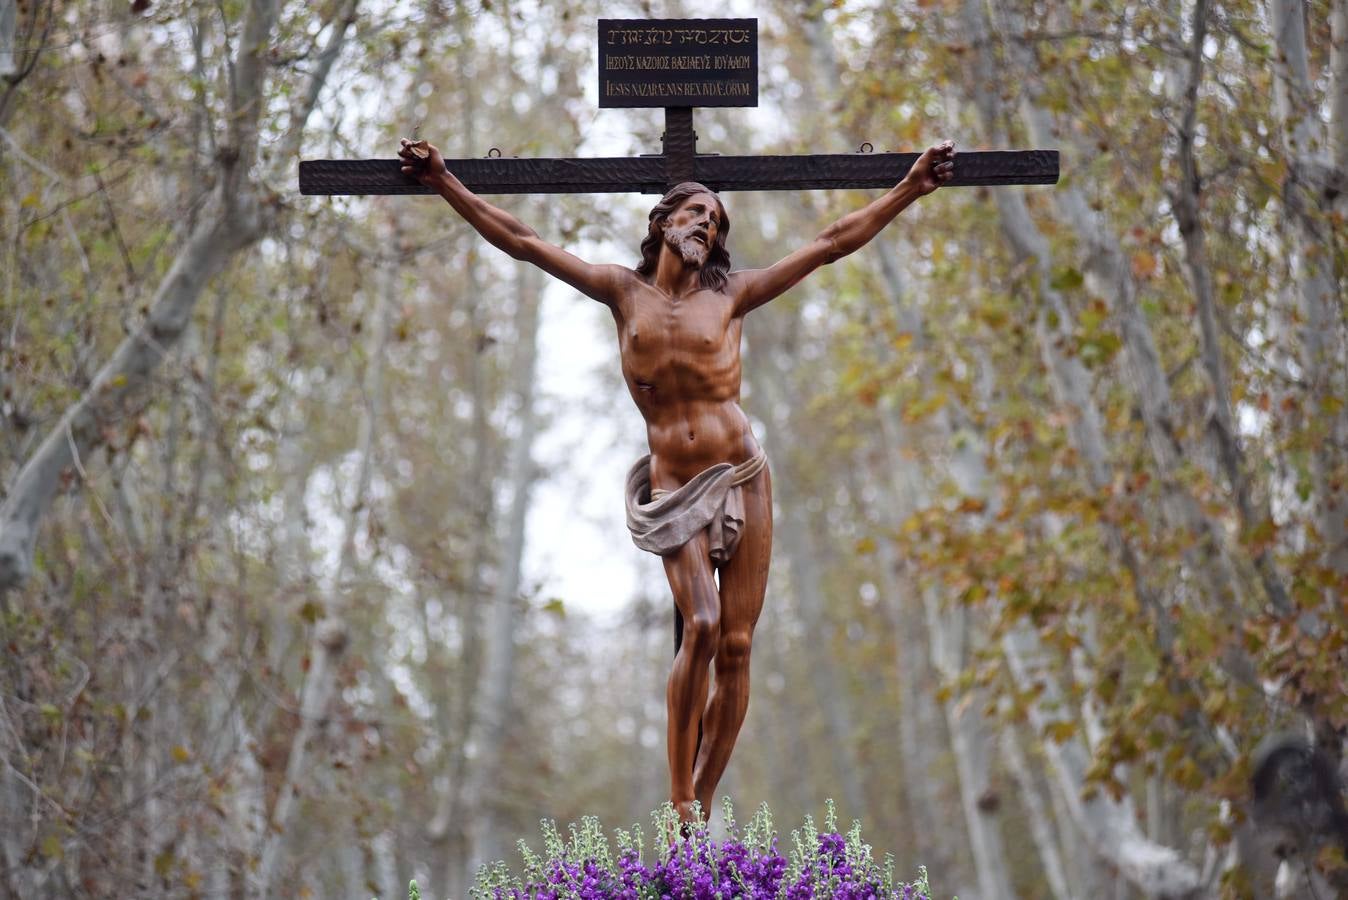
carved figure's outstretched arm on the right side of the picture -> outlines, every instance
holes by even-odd
[[[872,201],[855,213],[848,213],[820,232],[818,237],[782,257],[768,268],[744,269],[731,279],[736,296],[736,314],[785,294],[818,267],[838,260],[864,247],[880,233],[909,203],[930,194],[954,175],[954,141],[946,140],[929,147],[909,174],[884,197]]]

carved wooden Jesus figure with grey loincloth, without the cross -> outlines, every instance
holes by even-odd
[[[631,269],[594,265],[542,240],[464,187],[426,141],[403,140],[399,156],[406,174],[439,193],[489,243],[613,314],[623,377],[651,450],[628,474],[628,527],[639,547],[663,558],[683,617],[666,694],[670,799],[685,822],[693,800],[709,812],[748,709],[749,647],[772,552],[772,481],[739,404],[744,317],[859,249],[909,203],[950,181],[954,144],[930,147],[887,194],[778,263],[739,272],[725,249],[725,207],[701,185],[678,185],[656,203],[642,261]]]

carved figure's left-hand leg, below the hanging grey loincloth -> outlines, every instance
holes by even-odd
[[[693,757],[697,725],[706,705],[708,668],[720,637],[721,598],[712,577],[706,535],[700,534],[677,552],[665,556],[665,574],[674,604],[683,616],[683,643],[670,670],[669,707],[670,799],[679,819],[693,818]],[[710,810],[704,804],[702,814]]]

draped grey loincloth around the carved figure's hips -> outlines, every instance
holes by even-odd
[[[737,466],[718,462],[677,490],[651,492],[651,457],[642,457],[627,473],[627,529],[632,543],[667,556],[705,528],[712,562],[729,562],[744,531],[741,485],[764,465],[767,457],[762,453]]]

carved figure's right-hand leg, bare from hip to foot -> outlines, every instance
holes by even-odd
[[[702,714],[702,748],[693,776],[694,792],[708,816],[716,785],[731,761],[731,749],[749,706],[749,647],[763,609],[772,555],[772,480],[768,470],[764,468],[743,490],[744,534],[735,556],[721,569],[716,684]]]

